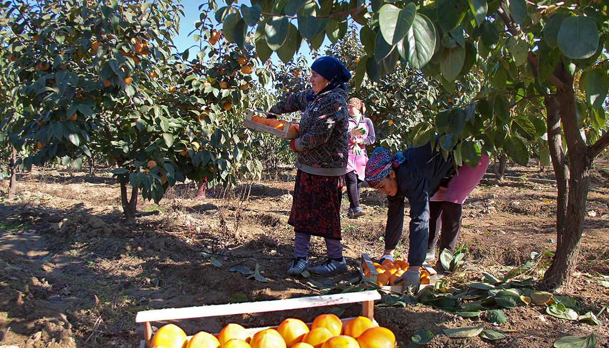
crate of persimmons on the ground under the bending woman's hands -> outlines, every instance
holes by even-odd
[[[372,262],[368,254],[362,254],[362,266],[359,268],[359,272],[362,277],[367,277],[376,282],[376,285],[381,286],[381,289],[389,290],[394,293],[403,293],[404,286],[395,284],[395,280],[400,277],[408,268],[408,262],[403,258],[396,258],[395,260],[383,261],[382,265],[376,262]],[[434,288],[435,280],[437,279],[437,272],[434,268],[430,267],[428,263],[423,263],[421,266],[421,286],[420,290],[431,286]]]

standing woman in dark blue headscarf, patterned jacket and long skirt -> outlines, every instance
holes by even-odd
[[[347,271],[340,245],[340,201],[347,172],[348,112],[345,82],[351,73],[334,57],[320,57],[311,65],[311,89],[294,93],[270,112],[302,112],[300,137],[290,141],[298,169],[288,223],[294,226],[294,260],[287,271],[298,275],[309,269],[311,235],[326,241],[328,258],[309,269],[314,274]]]

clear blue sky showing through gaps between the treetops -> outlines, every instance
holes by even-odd
[[[190,46],[192,46],[195,43],[192,35],[188,36],[188,33],[195,29],[194,22],[199,20],[199,13],[200,13],[199,5],[203,4],[203,1],[204,0],[181,0],[181,4],[184,6],[185,17],[180,18],[180,32],[179,32],[178,36],[174,38],[174,44],[175,44],[175,47],[177,48],[178,52],[183,52],[185,49],[189,48]],[[220,0],[217,0],[217,3],[219,5],[219,7],[222,7],[222,5],[225,4],[225,2],[222,2]],[[239,0],[238,4],[239,5],[245,4],[248,6],[251,5],[250,0]],[[205,5],[205,7],[203,7],[203,9],[206,9],[206,7],[207,6]],[[213,16],[211,16],[211,17],[213,18]],[[218,25],[215,19],[212,19],[211,21],[214,25]],[[294,23],[294,24],[297,25],[296,23]],[[221,26],[218,26],[218,28],[221,28]],[[251,29],[252,28],[250,27],[250,30]],[[323,44],[322,44],[322,47],[320,48],[320,50],[323,51],[324,46],[329,45],[329,44],[330,44],[330,42],[329,42],[328,38],[326,37],[325,40],[323,41]],[[197,51],[194,51],[194,50],[191,51],[190,57],[194,57],[196,53],[197,53]],[[306,42],[303,42],[303,44],[301,45],[299,53],[305,55],[309,64],[312,63],[311,54],[309,52],[309,46],[308,46],[308,44],[306,44]],[[273,53],[273,55],[271,56],[270,59],[276,65],[283,64],[275,53]]]

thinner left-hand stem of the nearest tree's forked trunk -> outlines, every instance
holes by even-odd
[[[556,176],[558,195],[556,198],[556,235],[560,236],[565,229],[565,218],[567,209],[567,181],[569,180],[569,168],[567,167],[565,152],[563,151],[563,137],[560,129],[560,104],[554,97],[546,97],[543,102],[547,114],[547,144],[552,158],[552,167]]]

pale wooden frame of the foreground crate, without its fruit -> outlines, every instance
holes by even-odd
[[[381,294],[379,294],[376,290],[372,290],[363,291],[361,293],[299,297],[296,299],[245,302],[240,304],[210,305],[186,308],[166,308],[162,310],[138,312],[135,316],[135,322],[141,322],[144,325],[144,339],[141,341],[139,346],[141,348],[151,348],[151,322],[174,321],[179,319],[191,318],[208,318],[213,316],[227,316],[244,313],[262,313],[270,311],[295,310],[300,308],[323,307],[362,302],[362,316],[367,317],[368,319],[373,321],[375,325],[378,325],[376,324],[376,321],[374,319],[374,306],[375,300],[379,299],[381,299]],[[343,322],[343,325],[347,325],[347,323],[351,319],[353,318],[345,318],[341,319],[341,321]],[[311,325],[308,325],[310,328]],[[246,330],[253,335],[254,333],[259,332],[260,330],[264,330],[265,328],[268,327],[248,328]],[[276,326],[271,328],[276,328]]]

